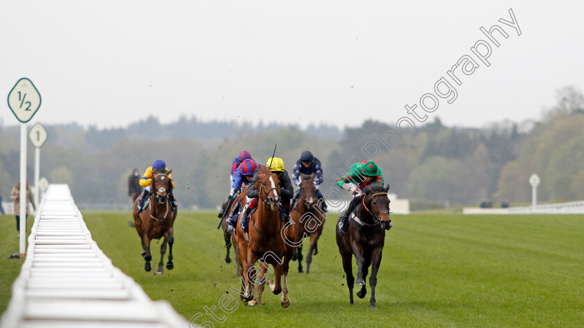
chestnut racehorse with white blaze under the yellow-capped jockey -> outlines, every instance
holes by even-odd
[[[293,254],[293,247],[286,247],[284,239],[280,237],[283,223],[279,217],[279,180],[276,174],[265,166],[257,168],[259,179],[255,188],[259,190],[257,210],[252,213],[248,222],[249,243],[245,240],[241,229],[241,217],[236,227],[236,249],[241,261],[241,276],[243,277],[243,300],[250,301],[248,305],[261,304],[261,293],[265,283],[267,264],[271,264],[275,272],[275,281],[268,281],[268,286],[275,295],[282,293],[282,306],[290,306],[288,297],[289,262]],[[284,261],[282,261],[284,258]],[[261,268],[255,263],[261,260]],[[259,274],[258,274],[259,272]],[[282,275],[284,276],[282,285]],[[259,279],[258,279],[259,278]],[[254,285],[258,285],[255,295]]]

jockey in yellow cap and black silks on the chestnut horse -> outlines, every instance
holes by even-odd
[[[279,190],[279,197],[280,197],[280,204],[284,208],[284,213],[280,212],[280,218],[284,220],[284,222],[289,222],[290,217],[290,200],[294,196],[294,187],[292,186],[292,181],[290,181],[290,177],[288,175],[288,171],[284,170],[284,161],[282,158],[274,157],[268,158],[268,163],[266,166],[270,167],[273,173],[276,174],[279,182],[280,182],[280,190]],[[259,172],[259,171],[257,171]],[[243,211],[241,212],[241,226],[245,227],[245,224],[248,222],[248,215],[252,209],[256,208],[259,196],[259,190],[255,188],[256,182],[259,180],[259,174],[254,173],[254,177],[250,182],[250,187],[248,188],[248,198],[253,198],[251,202],[245,204],[243,206]],[[247,228],[247,227],[245,227]],[[244,229],[245,229],[244,228]]]

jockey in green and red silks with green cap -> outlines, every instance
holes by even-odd
[[[381,183],[383,186],[383,175],[381,167],[373,161],[364,161],[351,165],[350,171],[343,177],[336,179],[336,186],[348,190],[355,195],[348,208],[343,212],[339,221],[339,232],[345,234],[349,215],[355,208],[357,202],[363,197],[362,189],[373,183]]]

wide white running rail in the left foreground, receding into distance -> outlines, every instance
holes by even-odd
[[[193,327],[112,265],[69,186],[49,186],[28,241],[0,327]]]

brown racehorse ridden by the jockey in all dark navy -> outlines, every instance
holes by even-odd
[[[290,218],[294,222],[293,226],[286,229],[286,239],[289,245],[298,245],[295,247],[295,256],[298,259],[298,272],[302,272],[302,240],[310,236],[310,246],[306,256],[306,273],[310,272],[310,263],[312,255],[318,243],[318,237],[323,233],[323,224],[326,215],[321,210],[316,197],[316,186],[314,186],[314,174],[302,174],[300,176],[300,199],[296,202]],[[291,229],[293,228],[293,229]],[[314,253],[316,254],[316,253]],[[292,258],[294,259],[294,257]]]

